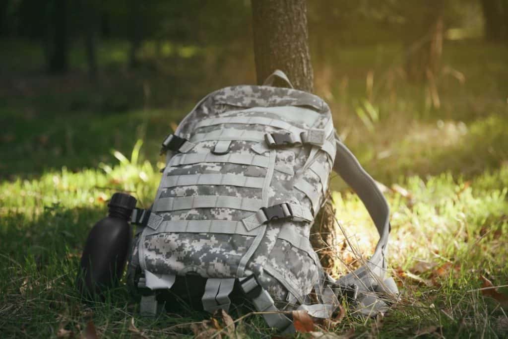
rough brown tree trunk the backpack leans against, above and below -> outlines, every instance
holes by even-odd
[[[254,53],[258,83],[280,69],[297,89],[312,92],[305,0],[252,0]],[[329,273],[337,265],[335,210],[328,203],[316,216],[310,242]]]

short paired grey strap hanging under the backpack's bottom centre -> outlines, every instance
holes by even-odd
[[[228,312],[231,305],[229,294],[233,291],[235,280],[234,278],[208,278],[206,280],[205,293],[201,299],[203,302],[203,309],[209,313],[213,313],[218,309],[223,309]]]

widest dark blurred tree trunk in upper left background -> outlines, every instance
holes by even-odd
[[[50,73],[66,73],[69,68],[67,4],[67,0],[55,0],[52,4],[52,41],[48,65]]]

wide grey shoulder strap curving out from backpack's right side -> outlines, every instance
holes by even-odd
[[[353,153],[336,140],[337,154],[333,169],[358,194],[372,218],[379,233],[379,241],[372,257],[365,266],[342,276],[337,283],[349,286],[361,283],[365,287],[383,279],[386,272],[386,249],[390,233],[390,208],[383,193],[379,191],[372,177],[362,168]]]

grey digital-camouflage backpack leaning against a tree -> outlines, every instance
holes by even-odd
[[[327,318],[348,296],[365,314],[386,307],[389,208],[372,178],[336,137],[328,105],[312,94],[232,86],[202,99],[163,142],[166,167],[151,210],[136,209],[128,280],[141,313],[155,315],[157,292],[189,276],[203,279],[205,311],[228,311],[240,290],[269,326],[294,330],[288,313]],[[292,86],[291,86],[292,87]],[[368,209],[380,240],[365,265],[335,281],[309,242],[331,170]],[[377,293],[375,293],[377,292]],[[270,311],[270,312],[269,312]]]

